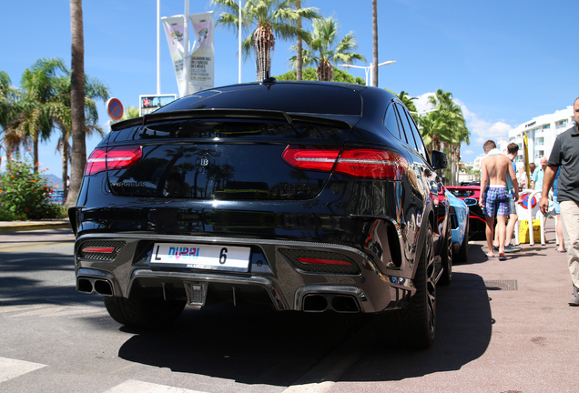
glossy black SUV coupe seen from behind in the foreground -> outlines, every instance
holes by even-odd
[[[376,314],[382,342],[429,347],[452,271],[446,162],[384,89],[267,79],[183,97],[89,156],[69,210],[76,289],[130,326],[267,303]]]

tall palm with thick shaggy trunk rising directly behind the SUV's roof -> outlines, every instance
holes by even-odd
[[[300,0],[247,0],[245,3],[241,23],[246,29],[253,25],[257,27],[243,40],[241,50],[244,58],[249,56],[251,49],[255,51],[258,81],[269,75],[271,51],[275,47],[276,37],[303,38],[306,32],[297,26],[298,19],[320,17],[316,8],[297,8],[297,3],[300,3]],[[223,25],[228,29],[239,30],[239,5],[234,0],[212,0],[211,4],[224,10],[218,16],[216,26]]]

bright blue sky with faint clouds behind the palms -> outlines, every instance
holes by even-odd
[[[372,55],[371,0],[305,0],[340,22],[340,35],[356,35],[358,52]],[[191,0],[190,13],[212,10],[208,0]],[[60,57],[70,66],[68,0],[2,0],[0,70],[15,86],[25,68],[41,57]],[[183,14],[184,1],[161,0],[161,16]],[[157,90],[157,1],[99,0],[83,4],[85,71],[110,88],[124,106]],[[218,10],[215,10],[215,16]],[[534,116],[572,105],[579,96],[573,82],[577,55],[573,39],[576,0],[379,0],[379,86],[426,97],[442,88],[452,93],[471,130],[462,146],[463,161],[482,153],[484,140],[508,137],[509,129]],[[290,70],[293,43],[278,40],[272,74]],[[216,86],[238,82],[237,35],[215,33]],[[361,69],[350,69],[364,77]],[[256,78],[255,61],[242,67],[242,81]],[[161,93],[178,93],[167,40],[161,32]],[[108,120],[99,105],[100,122]],[[57,136],[41,145],[41,166],[60,176]],[[99,138],[87,140],[90,153]],[[5,161],[5,160],[3,160]]]

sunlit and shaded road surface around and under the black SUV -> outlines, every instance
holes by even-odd
[[[565,256],[523,245],[506,262],[473,241],[438,291],[429,350],[375,344],[371,317],[186,307],[134,331],[75,291],[67,229],[0,234],[2,392],[576,392],[579,307]]]

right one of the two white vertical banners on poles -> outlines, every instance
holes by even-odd
[[[191,48],[189,93],[214,86],[213,11],[189,15],[195,41]]]

